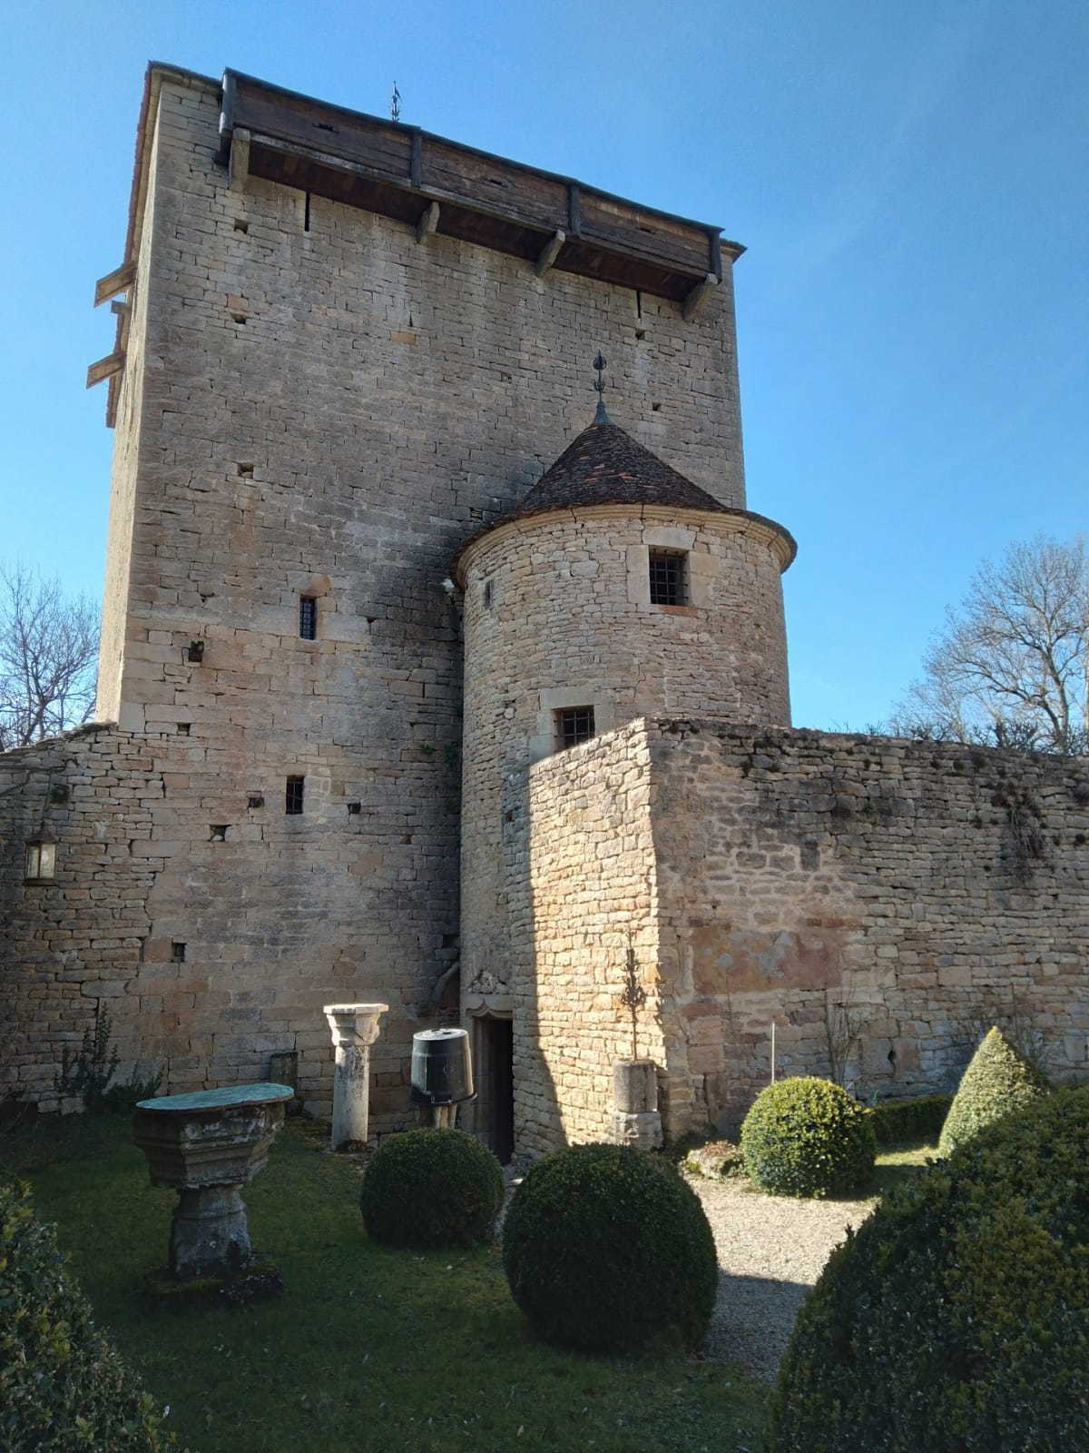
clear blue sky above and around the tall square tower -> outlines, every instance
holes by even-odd
[[[1085,0],[7,4],[0,556],[102,586],[87,363],[148,60],[231,65],[719,222],[794,721],[880,721],[986,555],[1086,526]]]

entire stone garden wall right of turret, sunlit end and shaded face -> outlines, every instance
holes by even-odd
[[[600,1059],[624,1043],[632,934],[669,1135],[736,1128],[772,1020],[780,1077],[835,1059],[867,1098],[954,1088],[993,1021],[1057,1078],[1089,1072],[1085,760],[658,719],[539,763],[526,790],[520,994]],[[574,1048],[550,1067],[556,1104],[591,1081],[604,1104]]]

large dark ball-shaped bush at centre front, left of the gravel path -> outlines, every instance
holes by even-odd
[[[626,1145],[539,1161],[507,1212],[502,1263],[539,1335],[585,1351],[694,1347],[719,1280],[696,1191],[669,1161]]]

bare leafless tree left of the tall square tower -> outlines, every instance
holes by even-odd
[[[97,651],[99,612],[86,596],[0,565],[0,751],[87,721]]]

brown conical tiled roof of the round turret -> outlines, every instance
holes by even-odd
[[[579,504],[672,504],[736,513],[608,420],[584,429],[505,519]]]

